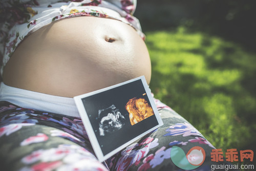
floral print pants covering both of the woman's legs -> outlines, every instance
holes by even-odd
[[[185,153],[201,146],[206,158],[195,170],[210,170],[214,146],[168,106],[155,103],[164,125],[100,163],[80,118],[1,101],[1,170],[182,170],[170,159],[174,145]]]

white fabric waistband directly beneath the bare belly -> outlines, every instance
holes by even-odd
[[[1,82],[0,101],[8,101],[21,108],[80,117],[75,100],[7,86]]]

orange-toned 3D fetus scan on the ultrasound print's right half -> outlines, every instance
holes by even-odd
[[[151,105],[144,98],[134,97],[130,99],[126,103],[125,109],[129,112],[131,125],[154,115]]]

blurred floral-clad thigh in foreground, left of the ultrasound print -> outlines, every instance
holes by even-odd
[[[108,170],[95,157],[79,118],[5,107],[1,170]]]

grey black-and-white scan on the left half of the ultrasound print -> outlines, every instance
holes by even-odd
[[[120,130],[125,124],[124,116],[119,112],[114,104],[109,108],[99,110],[97,120],[99,122],[100,136],[105,136],[109,133]]]

